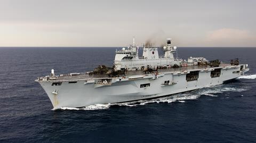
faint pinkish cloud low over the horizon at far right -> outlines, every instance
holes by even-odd
[[[256,36],[248,30],[222,28],[207,32],[205,42],[211,46],[256,46]]]

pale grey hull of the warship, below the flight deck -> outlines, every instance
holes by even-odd
[[[243,67],[245,67],[244,64]],[[211,71],[217,68],[191,69],[186,71],[159,72],[108,78],[111,84],[99,84],[99,79],[68,79],[38,81],[49,96],[54,108],[84,107],[94,104],[121,103],[132,100],[157,98],[204,87],[220,85],[223,82],[243,75],[249,69],[241,65],[225,65],[219,77],[211,77]],[[186,74],[199,71],[197,80],[187,81]],[[70,81],[75,81],[70,83]],[[173,84],[164,85],[165,81]],[[61,85],[53,85],[61,82]],[[143,87],[141,85],[146,85]]]

